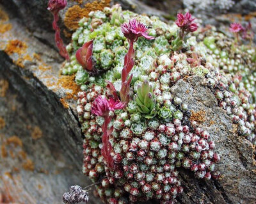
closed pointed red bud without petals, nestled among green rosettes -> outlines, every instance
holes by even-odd
[[[76,51],[76,60],[88,72],[93,72],[92,54],[93,40],[84,43],[84,45]]]

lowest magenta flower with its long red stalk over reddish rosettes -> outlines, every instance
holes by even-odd
[[[97,116],[104,117],[104,123],[102,125],[102,150],[101,154],[104,157],[105,161],[108,164],[108,167],[113,169],[115,168],[115,164],[113,158],[111,157],[112,146],[109,143],[109,136],[113,132],[113,126],[108,129],[108,124],[111,122],[111,116],[109,116],[109,111],[115,111],[118,109],[122,109],[124,104],[113,98],[102,98],[101,96],[97,97],[92,104],[92,113]]]

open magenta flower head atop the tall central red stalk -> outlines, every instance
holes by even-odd
[[[125,38],[135,42],[140,36],[143,36],[147,40],[153,40],[153,36],[149,36],[147,33],[148,27],[143,23],[138,22],[136,19],[129,20],[129,23],[124,23],[121,26],[122,33]]]

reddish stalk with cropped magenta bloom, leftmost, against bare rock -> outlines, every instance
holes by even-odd
[[[55,31],[55,43],[59,49],[60,55],[69,60],[68,52],[60,36],[60,27],[58,26],[59,12],[67,6],[67,0],[49,0],[48,8],[53,15],[52,27]]]

